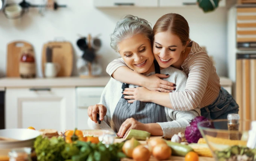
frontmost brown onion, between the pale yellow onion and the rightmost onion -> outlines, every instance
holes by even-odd
[[[143,145],[139,145],[133,150],[133,159],[135,161],[148,161],[150,156],[150,151]]]

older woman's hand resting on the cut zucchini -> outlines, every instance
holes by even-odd
[[[117,136],[126,137],[126,135],[131,129],[146,131],[147,128],[146,128],[146,124],[143,124],[134,118],[129,118],[129,119],[126,119],[125,122],[123,122],[123,124],[119,128]]]

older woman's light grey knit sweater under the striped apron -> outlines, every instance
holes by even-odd
[[[170,75],[168,78],[165,78],[164,80],[173,82],[177,85],[176,90],[174,92],[185,90],[187,76],[184,72],[174,67],[165,68],[160,72],[161,74],[168,73]],[[149,73],[149,75],[153,75],[153,74],[155,74],[155,72]],[[109,82],[105,86],[104,91],[102,92],[101,101],[99,103],[107,107],[107,114],[104,117],[104,121],[108,125],[110,125],[110,127],[115,132],[118,132],[118,129],[115,128],[115,125],[112,119],[113,119],[113,113],[116,108],[116,105],[122,96],[121,87],[122,87],[122,82],[119,82],[114,78],[110,78]],[[137,87],[137,85],[129,85],[129,87],[134,88],[134,87]],[[193,110],[188,110],[188,111],[177,111],[177,110],[175,111],[167,107],[164,107],[164,108],[165,108],[166,118],[168,122],[157,122],[157,124],[159,124],[162,127],[163,136],[166,138],[171,138],[174,134],[178,134],[178,132],[184,133],[187,125],[189,125],[192,119],[194,119],[196,116],[200,116],[200,107],[197,107]],[[91,129],[100,129],[99,124],[91,121],[90,118],[88,119],[88,126]]]

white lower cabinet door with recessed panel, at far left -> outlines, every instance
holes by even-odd
[[[75,88],[7,88],[6,128],[75,128]]]

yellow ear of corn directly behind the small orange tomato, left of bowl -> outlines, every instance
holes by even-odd
[[[191,143],[189,146],[196,152],[199,156],[203,157],[212,157],[212,151],[208,147],[207,144],[198,144],[198,143]]]

